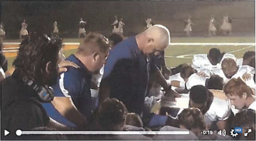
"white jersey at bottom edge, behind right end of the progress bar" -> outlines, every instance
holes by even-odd
[[[189,131],[188,135],[156,135],[153,140],[199,140],[197,136],[190,130],[176,128],[172,126],[164,126],[160,131]]]

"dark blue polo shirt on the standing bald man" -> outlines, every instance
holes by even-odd
[[[102,80],[108,82],[111,98],[122,101],[129,112],[141,114],[149,75],[154,70],[155,65],[150,65],[132,36],[110,51]]]

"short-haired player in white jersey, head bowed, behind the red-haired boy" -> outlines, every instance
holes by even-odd
[[[246,85],[250,86],[250,88],[255,92],[255,82],[253,80],[255,69],[249,65],[237,66],[236,61],[227,58],[222,61],[221,68],[213,69],[212,73],[222,77],[224,84],[226,84],[231,78],[243,78],[243,74],[251,74],[251,78],[249,80],[243,81],[245,81]]]

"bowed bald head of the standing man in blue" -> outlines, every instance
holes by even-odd
[[[163,51],[170,45],[170,32],[166,27],[156,24],[139,34],[137,42],[145,54]]]

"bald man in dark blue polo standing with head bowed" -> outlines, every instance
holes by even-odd
[[[166,94],[176,96],[162,73],[151,63],[150,56],[159,54],[170,44],[170,32],[162,25],[132,36],[110,51],[100,85],[100,103],[107,97],[122,101],[129,112],[142,113],[148,80],[154,77]]]

